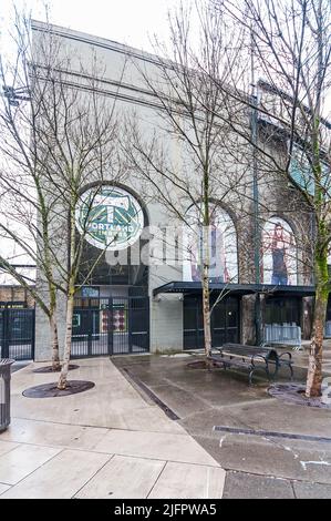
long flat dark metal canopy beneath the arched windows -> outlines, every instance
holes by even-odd
[[[309,297],[314,295],[314,286],[275,286],[272,284],[227,284],[209,283],[211,292],[224,292],[231,295],[252,295],[261,293],[273,296]],[[161,293],[182,293],[184,295],[198,295],[203,292],[200,282],[170,282],[153,290],[153,296]]]

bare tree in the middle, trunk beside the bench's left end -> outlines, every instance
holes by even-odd
[[[201,29],[198,37],[192,24],[192,9],[180,4],[169,14],[170,48],[156,39],[158,58],[153,65],[145,69],[136,65],[145,95],[156,111],[152,120],[154,132],[151,135],[151,126],[146,131],[134,115],[126,125],[123,151],[132,175],[136,174],[141,183],[145,182],[144,192],[152,190],[153,197],[166,207],[166,212],[186,226],[186,233],[190,231],[195,235],[203,288],[204,345],[208,356],[214,308],[210,307],[209,282],[211,229],[223,203],[228,207],[234,206],[235,201],[240,204],[238,197],[246,193],[248,180],[247,170],[240,165],[242,146],[236,135],[229,135],[227,123],[217,116],[223,111],[225,96],[214,79],[225,80],[228,73],[223,59],[228,37],[219,18],[208,17],[203,3],[195,3]],[[200,60],[204,71],[197,68]],[[229,146],[231,139],[234,143]],[[235,236],[232,244],[236,244]],[[192,255],[189,245],[186,249],[183,255]],[[218,280],[221,275],[219,273]],[[227,283],[235,280],[236,275],[225,279]]]

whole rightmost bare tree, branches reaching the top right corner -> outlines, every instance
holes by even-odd
[[[313,215],[316,300],[306,394],[320,396],[330,293],[331,125],[325,118],[331,86],[331,6],[328,0],[215,0],[210,9],[242,31],[234,73],[223,88],[229,100],[256,111],[261,139],[252,139],[250,129],[237,121],[231,102],[226,119],[252,145],[258,162],[269,163],[269,168],[297,188],[301,197],[298,211]],[[250,95],[247,83],[234,81],[245,78],[249,55],[255,78],[261,78],[256,84],[258,99],[257,92]],[[216,82],[220,85],[218,79]]]

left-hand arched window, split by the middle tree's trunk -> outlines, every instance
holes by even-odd
[[[238,254],[234,222],[214,203],[210,203],[209,215],[209,280],[235,284],[238,282]],[[183,280],[201,280],[201,210],[190,206],[183,229]]]

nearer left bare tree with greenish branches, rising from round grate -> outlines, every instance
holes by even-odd
[[[93,260],[84,258],[93,202],[105,178],[116,182],[121,173],[117,115],[115,100],[110,102],[100,93],[103,68],[93,53],[85,70],[79,60],[74,63],[76,57],[68,54],[51,25],[45,25],[32,42],[29,21],[17,27],[19,60],[9,94],[24,88],[29,95],[27,103],[20,104],[12,103],[8,95],[1,113],[6,135],[1,152],[14,173],[11,176],[8,168],[3,170],[1,186],[17,208],[18,224],[12,232],[2,221],[1,229],[37,264],[39,285],[32,292],[50,319],[54,362],[59,359],[56,295],[65,297],[64,355],[58,384],[63,389],[71,354],[74,295],[104,255],[101,249]],[[79,233],[80,208],[83,218]],[[29,232],[28,237],[22,229]],[[107,245],[105,242],[104,249]],[[18,272],[10,269],[23,285]]]

